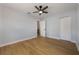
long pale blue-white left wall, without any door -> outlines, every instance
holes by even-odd
[[[1,11],[2,9],[2,11]],[[2,13],[2,16],[1,16]],[[2,19],[1,19],[2,17]],[[1,21],[3,24],[1,24]],[[9,7],[0,7],[0,45],[36,36],[36,21]],[[1,28],[1,25],[3,28]],[[1,31],[1,29],[3,31]]]

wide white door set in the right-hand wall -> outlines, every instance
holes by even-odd
[[[63,17],[60,20],[61,39],[71,41],[71,17]]]

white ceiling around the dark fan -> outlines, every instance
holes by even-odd
[[[32,17],[39,18],[54,15],[56,13],[74,10],[77,6],[77,3],[5,3],[2,5],[26,13]],[[43,14],[39,16],[36,13],[32,13],[33,11],[37,11],[34,8],[34,6],[36,5],[43,5],[44,7],[48,6],[48,9],[46,9],[46,11],[48,11],[48,14]]]

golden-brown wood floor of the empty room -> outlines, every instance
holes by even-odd
[[[33,38],[0,48],[0,55],[77,55],[74,43],[44,37]]]

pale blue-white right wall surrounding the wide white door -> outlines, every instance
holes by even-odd
[[[56,15],[51,15],[49,18],[46,18],[47,22],[47,37],[58,38],[60,39],[60,18],[70,16],[71,19],[71,39],[72,42],[76,42],[76,10],[67,11],[59,13]]]

